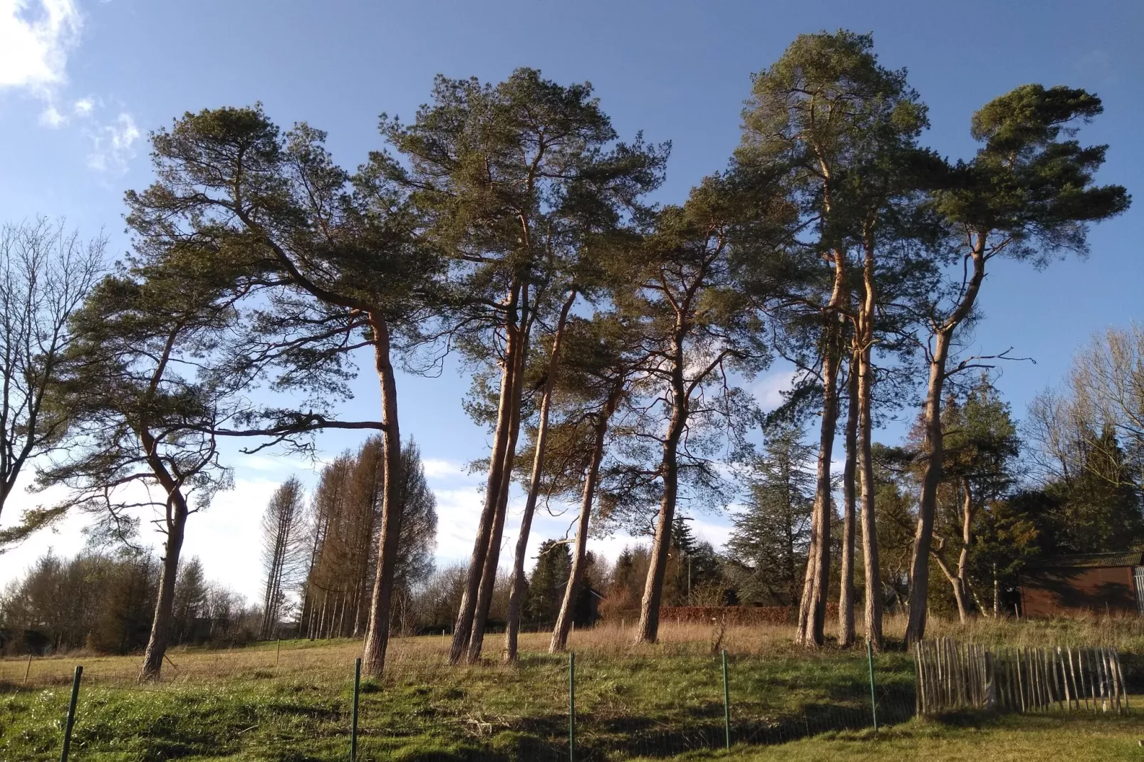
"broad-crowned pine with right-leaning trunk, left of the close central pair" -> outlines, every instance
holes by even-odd
[[[521,428],[525,359],[542,312],[563,299],[586,233],[619,225],[662,180],[667,146],[617,143],[587,84],[519,69],[506,81],[438,77],[414,121],[383,129],[406,161],[376,157],[408,189],[448,262],[442,331],[499,364],[484,508],[450,658],[480,656]]]

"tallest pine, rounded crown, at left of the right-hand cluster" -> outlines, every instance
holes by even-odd
[[[802,235],[787,243],[785,257],[788,270],[799,273],[784,284],[789,293],[786,327],[802,344],[800,355],[805,357],[800,364],[813,375],[823,398],[815,511],[795,636],[809,646],[823,644],[826,617],[833,515],[829,465],[847,354],[844,324],[855,317],[850,248],[865,243],[864,269],[873,275],[874,231],[888,200],[898,193],[896,154],[909,146],[924,120],[924,106],[906,86],[905,72],[877,63],[869,34],[847,31],[800,35],[779,61],[755,76],[744,111],[737,164],[748,172],[766,167],[781,172],[788,198],[797,207]],[[858,312],[865,316],[857,325],[859,366],[873,343],[876,293],[872,278],[867,281]],[[859,386],[864,378],[866,384],[872,382],[868,372],[856,370]],[[856,396],[868,400],[871,394],[859,389]],[[865,516],[863,538],[873,550],[875,534],[866,526],[867,521],[873,525],[872,506]]]

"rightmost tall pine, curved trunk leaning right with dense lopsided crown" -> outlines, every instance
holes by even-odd
[[[1085,253],[1089,224],[1128,208],[1130,198],[1122,186],[1094,183],[1107,146],[1082,146],[1074,137],[1080,124],[1102,111],[1101,98],[1083,89],[1022,85],[974,114],[970,134],[982,148],[971,161],[954,167],[950,186],[935,195],[961,277],[927,316],[925,468],[911,562],[909,643],[925,635],[930,549],[945,453],[945,382],[980,364],[964,358],[951,367],[955,335],[974,315],[991,260],[1044,263],[1062,253]]]

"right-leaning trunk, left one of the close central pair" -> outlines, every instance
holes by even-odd
[[[450,646],[448,661],[458,664],[469,649],[469,636],[472,634],[472,620],[477,610],[477,597],[480,593],[480,578],[485,567],[485,554],[488,551],[488,540],[493,533],[493,522],[500,501],[501,477],[505,466],[505,450],[508,446],[509,429],[513,424],[513,384],[516,368],[516,354],[521,340],[516,311],[519,297],[519,284],[511,288],[508,317],[505,322],[506,344],[503,367],[501,370],[500,406],[496,412],[496,434],[493,437],[493,451],[488,458],[488,479],[485,483],[485,506],[480,511],[477,525],[477,537],[472,543],[472,555],[466,572],[464,590],[461,604],[453,625],[453,642]]]

